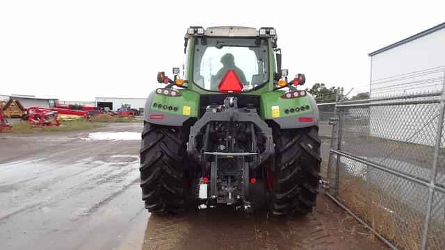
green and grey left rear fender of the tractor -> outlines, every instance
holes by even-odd
[[[145,102],[144,121],[165,126],[182,126],[191,117],[199,115],[200,96],[191,90],[175,90],[179,92],[174,97],[159,94],[154,90]],[[156,106],[155,106],[156,104]]]

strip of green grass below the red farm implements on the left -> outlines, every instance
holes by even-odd
[[[81,131],[91,128],[102,127],[102,124],[85,121],[67,121],[61,123],[63,126],[52,126],[44,128],[33,128],[27,122],[15,122],[11,124],[13,128],[10,130],[3,130],[2,133],[42,133],[42,132],[67,132],[67,131]]]

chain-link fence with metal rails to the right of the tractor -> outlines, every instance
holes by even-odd
[[[337,98],[326,194],[391,249],[445,249],[444,98]]]

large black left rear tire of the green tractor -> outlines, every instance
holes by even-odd
[[[140,188],[151,213],[184,211],[192,181],[186,171],[181,128],[144,124],[140,149]]]

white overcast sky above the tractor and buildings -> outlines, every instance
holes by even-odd
[[[307,85],[369,89],[368,53],[445,22],[445,1],[0,1],[0,94],[147,97],[188,26],[273,26]]]

